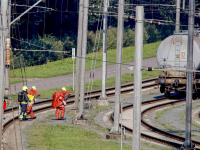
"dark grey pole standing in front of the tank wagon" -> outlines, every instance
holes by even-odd
[[[187,70],[193,70],[193,36],[194,36],[194,13],[195,0],[189,0],[188,16],[188,49],[187,49]],[[185,120],[185,148],[192,148],[191,141],[191,121],[192,121],[192,91],[193,91],[193,73],[187,72],[186,85],[186,120]]]

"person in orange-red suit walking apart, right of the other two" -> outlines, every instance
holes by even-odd
[[[72,95],[72,93],[68,92],[65,87],[62,87],[62,91],[60,92],[60,96],[58,99],[58,107],[56,107],[56,119],[57,120],[65,120],[65,106],[67,105],[67,99],[69,98],[69,95]],[[61,115],[59,117],[59,113],[61,111]]]

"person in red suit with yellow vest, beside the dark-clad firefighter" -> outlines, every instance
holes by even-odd
[[[34,113],[33,113],[33,105],[36,101],[36,98],[38,96],[40,96],[40,93],[38,91],[36,91],[35,86],[32,86],[31,90],[28,91],[27,93],[28,93],[28,98],[29,98],[29,102],[28,102],[28,105],[27,105],[27,113],[30,112],[31,118],[35,119],[36,116],[34,116]]]

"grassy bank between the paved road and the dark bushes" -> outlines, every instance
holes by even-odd
[[[149,58],[156,56],[157,48],[160,42],[152,43],[152,44],[145,44],[144,51],[143,51],[143,58]],[[114,64],[116,62],[116,49],[108,50],[108,65]],[[134,61],[134,47],[126,47],[123,48],[123,56],[122,62],[130,62]],[[87,55],[86,59],[86,70],[91,69],[93,54],[90,53]],[[95,58],[94,58],[95,59]],[[76,62],[76,60],[75,60]],[[75,63],[76,64],[76,63]],[[94,65],[93,61],[93,65]],[[102,52],[98,52],[97,61],[96,61],[96,68],[102,66]],[[94,67],[94,66],[93,66]],[[61,75],[71,74],[73,72],[73,61],[71,58],[66,58],[62,60],[58,60],[55,62],[47,62],[47,64],[26,67],[25,72],[24,69],[15,69],[15,73],[13,74],[13,70],[10,71],[10,77],[17,77],[20,78],[22,75],[26,75],[26,78],[49,78]]]

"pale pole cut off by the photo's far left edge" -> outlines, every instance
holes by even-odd
[[[0,15],[0,129],[2,129],[2,119],[3,119],[3,101],[4,101],[4,73],[5,73],[5,20],[4,16],[6,15],[8,6],[8,0],[1,0],[1,15]],[[3,141],[2,141],[2,130],[0,130],[0,143],[1,149],[3,149]]]

